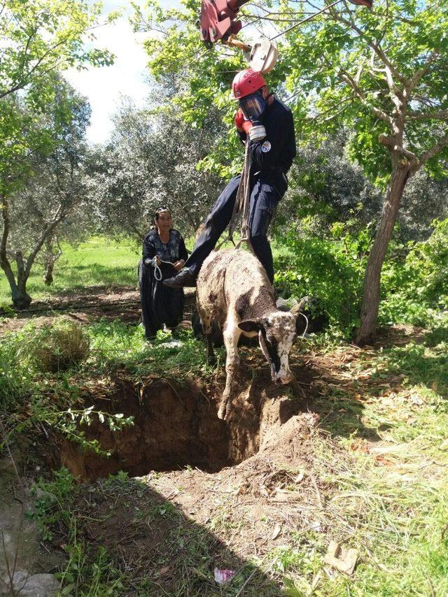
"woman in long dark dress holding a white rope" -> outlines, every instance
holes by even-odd
[[[174,329],[183,315],[183,289],[167,288],[162,280],[171,278],[183,268],[188,253],[181,233],[172,229],[172,217],[167,208],[158,208],[154,214],[155,228],[143,241],[143,257],[139,264],[141,315],[145,336],[153,340],[163,324]],[[169,261],[165,264],[163,261]],[[162,279],[160,278],[162,274]]]

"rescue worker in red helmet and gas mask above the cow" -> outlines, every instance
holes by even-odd
[[[237,73],[232,82],[232,93],[239,101],[235,125],[241,141],[250,143],[252,159],[250,242],[272,283],[274,266],[267,229],[277,203],[288,189],[286,173],[296,154],[293,114],[288,106],[269,93],[265,79],[253,69]],[[195,286],[204,260],[230,222],[240,178],[240,175],[232,178],[216,201],[186,261],[186,269],[175,278],[164,280],[164,285],[172,288]]]

